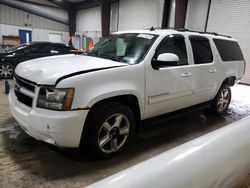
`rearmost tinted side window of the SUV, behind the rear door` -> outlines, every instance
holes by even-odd
[[[213,39],[216,48],[223,61],[241,61],[244,60],[240,46],[236,41]]]

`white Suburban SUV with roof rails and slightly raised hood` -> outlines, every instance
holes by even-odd
[[[231,99],[245,61],[236,40],[187,30],[114,33],[83,55],[45,57],[15,70],[10,109],[32,137],[84,145],[107,158],[125,148],[141,120]]]

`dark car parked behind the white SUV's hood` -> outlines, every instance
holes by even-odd
[[[61,43],[31,42],[11,47],[0,53],[0,79],[12,78],[15,67],[30,59],[74,53],[74,48]]]

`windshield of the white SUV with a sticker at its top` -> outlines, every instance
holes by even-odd
[[[109,35],[87,51],[86,54],[136,64],[145,56],[156,38],[156,35],[142,33]]]

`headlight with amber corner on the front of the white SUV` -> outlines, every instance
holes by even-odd
[[[50,110],[70,110],[74,97],[74,89],[57,89],[41,87],[37,99],[37,107]]]

